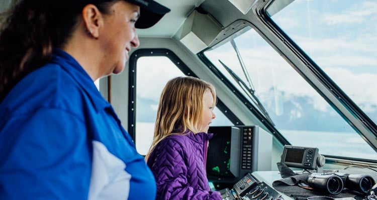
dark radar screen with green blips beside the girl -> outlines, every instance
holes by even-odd
[[[230,172],[231,135],[214,133],[207,154],[207,175],[235,177]]]

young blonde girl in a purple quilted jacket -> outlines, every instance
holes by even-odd
[[[209,125],[215,118],[215,88],[194,77],[167,82],[158,105],[152,145],[146,155],[157,182],[156,199],[219,199],[206,175]]]

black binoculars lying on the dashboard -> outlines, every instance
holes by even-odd
[[[348,173],[312,173],[307,183],[313,189],[321,190],[336,195],[343,188],[366,194],[374,185],[370,175]]]

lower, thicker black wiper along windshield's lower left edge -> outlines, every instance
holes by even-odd
[[[274,126],[275,124],[272,122],[272,119],[269,117],[267,111],[264,109],[262,103],[260,103],[259,99],[255,96],[254,90],[252,88],[249,88],[245,82],[242,81],[242,79],[237,76],[236,73],[233,72],[228,66],[226,66],[221,60],[219,60],[221,65],[224,66],[224,68],[229,72],[229,74],[233,77],[234,80],[238,83],[238,85],[241,86],[242,90],[249,96],[249,98],[254,102],[254,104],[259,108],[259,110],[264,114],[266,119]]]

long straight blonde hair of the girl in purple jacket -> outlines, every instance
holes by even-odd
[[[212,93],[215,106],[215,87],[195,77],[176,77],[168,81],[162,90],[158,104],[152,145],[145,160],[157,144],[172,134],[182,134],[187,129],[200,132],[203,113],[203,98],[206,91]]]

